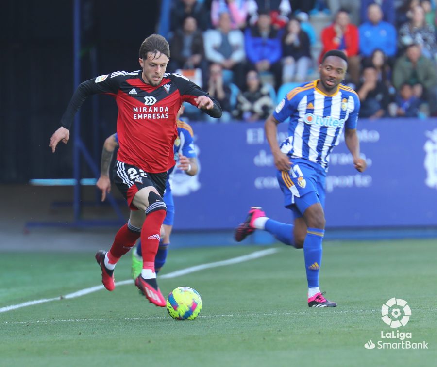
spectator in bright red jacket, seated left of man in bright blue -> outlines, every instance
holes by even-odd
[[[349,13],[346,10],[340,9],[334,22],[322,30],[321,41],[323,49],[319,60],[321,61],[323,55],[331,49],[343,51],[348,57],[348,74],[356,85],[360,77],[358,28],[351,24]]]

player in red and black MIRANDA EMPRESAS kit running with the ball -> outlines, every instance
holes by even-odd
[[[211,117],[221,116],[218,102],[199,86],[181,75],[166,73],[169,58],[167,40],[152,34],[139,49],[140,70],[118,71],[84,81],[73,94],[61,127],[53,133],[49,144],[53,153],[59,142],[67,144],[74,115],[88,96],[105,93],[115,97],[119,149],[114,182],[127,199],[131,213],[128,223],[118,230],[110,250],[99,251],[96,260],[101,267],[103,285],[112,291],[115,265],[141,238],[143,270],[135,285],[151,303],[160,307],[166,306],[166,300],[156,282],[154,262],[166,216],[162,197],[167,171],[175,164],[176,115],[187,101]]]

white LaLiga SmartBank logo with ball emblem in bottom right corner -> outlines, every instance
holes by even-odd
[[[381,319],[390,326],[391,329],[398,329],[405,326],[411,316],[411,308],[407,302],[401,298],[390,298],[381,307]],[[412,341],[412,332],[403,332],[396,330],[396,332],[381,331],[381,339],[373,343],[372,339],[364,344],[366,349],[428,349],[428,343],[423,341]]]

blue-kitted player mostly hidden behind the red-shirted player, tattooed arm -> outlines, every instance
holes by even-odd
[[[177,168],[184,171],[188,176],[195,176],[198,172],[197,155],[194,150],[193,130],[179,117],[184,113],[184,105],[181,106],[177,115],[178,137],[174,142],[174,160],[178,163]],[[101,174],[96,185],[101,190],[101,201],[106,198],[106,193],[111,191],[111,181],[109,178],[109,166],[112,161],[114,150],[118,147],[117,133],[109,136],[103,144],[101,152]],[[166,191],[164,193],[164,203],[167,206],[167,215],[161,228],[161,239],[159,241],[158,252],[155,257],[155,272],[161,270],[166,263],[168,246],[170,245],[170,234],[174,221],[174,202],[171,192],[171,176],[174,174],[176,166],[168,170]],[[141,241],[138,241],[132,250],[132,277],[136,279],[143,268],[141,253]]]

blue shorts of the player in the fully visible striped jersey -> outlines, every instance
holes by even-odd
[[[309,160],[290,159],[289,172],[278,171],[276,177],[284,194],[284,206],[291,209],[295,218],[313,204],[320,203],[325,208],[325,169]]]

